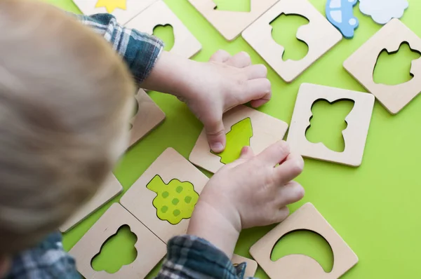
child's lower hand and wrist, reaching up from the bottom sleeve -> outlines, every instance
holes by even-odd
[[[290,154],[286,142],[277,142],[258,156],[244,147],[239,160],[217,172],[203,189],[188,233],[230,256],[241,229],[288,217],[286,205],[304,196],[302,186],[292,181],[303,167],[302,157]]]

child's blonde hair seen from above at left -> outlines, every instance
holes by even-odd
[[[0,256],[36,244],[95,193],[135,86],[108,43],[34,0],[0,0]]]

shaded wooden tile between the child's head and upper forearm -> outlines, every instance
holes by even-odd
[[[138,102],[138,113],[133,117],[131,123],[131,146],[165,120],[163,111],[144,90],[140,89],[135,95],[135,99]]]

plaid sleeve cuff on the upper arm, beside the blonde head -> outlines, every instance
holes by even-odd
[[[75,16],[83,25],[91,27],[112,44],[114,50],[126,61],[138,83],[147,78],[163,50],[160,39],[119,25],[116,18],[109,13]]]

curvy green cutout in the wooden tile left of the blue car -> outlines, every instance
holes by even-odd
[[[309,20],[302,15],[286,15],[282,13],[270,22],[272,39],[285,49],[282,60],[302,60],[309,52],[307,43],[297,39],[298,28],[307,25]]]

